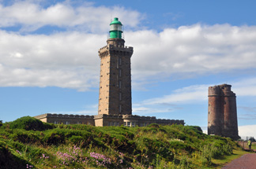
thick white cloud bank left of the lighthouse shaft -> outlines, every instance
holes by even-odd
[[[18,35],[0,31],[0,86],[98,86],[104,35]],[[100,44],[100,45],[99,45]]]

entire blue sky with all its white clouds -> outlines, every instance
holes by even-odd
[[[97,114],[98,50],[124,26],[133,114],[207,126],[208,87],[232,85],[239,135],[256,137],[254,1],[0,0],[0,119]]]

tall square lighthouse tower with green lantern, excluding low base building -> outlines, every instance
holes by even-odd
[[[99,50],[99,115],[132,114],[130,57],[133,52],[133,47],[125,46],[122,23],[114,18],[110,24],[107,46]]]

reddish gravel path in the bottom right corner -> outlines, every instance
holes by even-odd
[[[232,160],[224,169],[255,169],[256,168],[256,154],[245,154],[239,159]]]

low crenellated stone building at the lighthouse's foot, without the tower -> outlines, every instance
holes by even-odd
[[[155,116],[137,116],[137,115],[62,115],[62,114],[43,114],[35,116],[45,123],[55,124],[89,124],[96,127],[104,126],[126,126],[126,127],[145,127],[151,123],[160,125],[182,124],[184,120],[178,119],[156,119]]]

